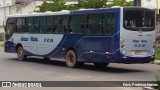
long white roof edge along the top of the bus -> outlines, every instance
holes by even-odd
[[[33,16],[50,16],[50,15],[67,15],[67,14],[81,14],[81,13],[96,13],[96,12],[105,12],[110,11],[110,10],[119,10],[120,8],[144,8],[144,7],[137,7],[137,6],[131,6],[131,7],[120,7],[120,6],[113,6],[111,8],[97,8],[97,9],[79,9],[79,10],[62,10],[62,11],[57,11],[57,12],[41,12],[41,13],[26,13],[26,14],[14,14],[14,15],[9,15],[8,18],[14,18],[14,17],[33,17]],[[149,8],[144,8],[144,9],[149,9]]]

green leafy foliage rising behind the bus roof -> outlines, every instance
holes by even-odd
[[[77,4],[66,5],[63,0],[53,0],[53,2],[44,1],[43,4],[37,6],[37,12],[46,11],[61,11],[61,10],[78,10],[81,8],[105,8],[112,6],[133,6],[133,1],[114,0],[113,3],[108,3],[108,0],[78,0]]]

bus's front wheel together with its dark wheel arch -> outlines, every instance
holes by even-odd
[[[20,43],[18,43],[18,44],[16,45],[16,53],[17,53],[17,58],[18,58],[18,60],[20,60],[20,61],[25,60],[26,57],[27,57],[27,56],[25,55],[23,46],[22,46],[22,44],[20,44]]]

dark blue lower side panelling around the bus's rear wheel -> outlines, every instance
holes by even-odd
[[[84,62],[109,62],[112,52],[111,36],[87,36],[83,34],[65,35],[58,47],[47,56],[64,59],[66,49],[74,48],[78,61]],[[90,52],[93,51],[93,52]],[[108,58],[107,58],[108,57]]]

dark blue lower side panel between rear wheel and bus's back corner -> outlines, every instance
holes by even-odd
[[[111,53],[111,36],[85,36],[79,45],[77,45],[79,58],[85,62],[109,62],[107,58]]]

